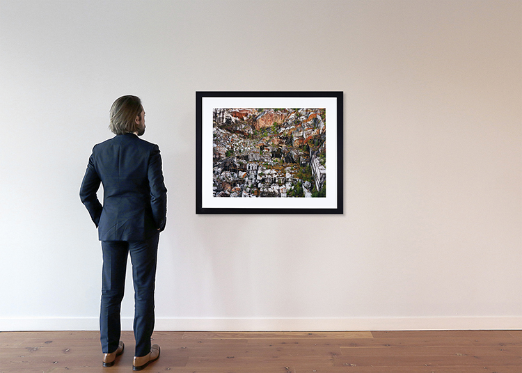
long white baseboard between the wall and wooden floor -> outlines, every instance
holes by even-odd
[[[157,331],[405,331],[519,330],[522,317],[166,318]],[[97,331],[97,317],[1,318],[0,331]],[[132,330],[132,318],[122,318]]]

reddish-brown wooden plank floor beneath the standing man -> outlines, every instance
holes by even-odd
[[[155,332],[143,372],[522,373],[522,331]],[[102,367],[93,331],[0,333],[0,372],[132,372],[134,337]]]

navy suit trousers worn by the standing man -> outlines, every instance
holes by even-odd
[[[127,255],[132,262],[134,282],[134,356],[150,352],[150,337],[154,331],[154,290],[159,233],[146,241],[102,241],[102,305],[100,310],[100,340],[102,352],[118,349],[121,323],[120,308],[125,290]]]

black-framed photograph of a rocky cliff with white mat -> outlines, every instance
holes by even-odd
[[[342,92],[196,92],[196,214],[342,214]]]

